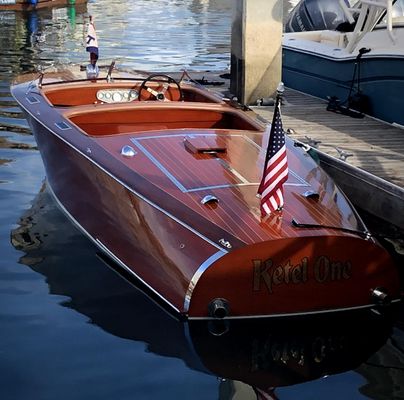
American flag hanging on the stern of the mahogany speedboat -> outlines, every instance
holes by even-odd
[[[272,119],[264,174],[258,188],[261,195],[261,216],[271,214],[283,207],[283,184],[288,179],[285,134],[283,132],[280,98],[278,96]]]

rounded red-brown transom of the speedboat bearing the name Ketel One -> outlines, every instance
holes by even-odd
[[[375,307],[400,297],[388,252],[349,236],[258,243],[204,266],[191,281],[188,318],[306,315]]]

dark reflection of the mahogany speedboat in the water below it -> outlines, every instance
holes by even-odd
[[[354,369],[391,332],[386,316],[369,311],[327,319],[179,321],[94,257],[95,247],[45,186],[11,241],[25,252],[20,262],[46,277],[51,294],[71,299],[64,306],[112,335],[146,343],[147,351],[220,377],[220,399],[240,392],[247,399],[277,398],[276,388]]]

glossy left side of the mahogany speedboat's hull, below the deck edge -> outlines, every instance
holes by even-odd
[[[115,262],[175,310],[184,312],[195,270],[220,252],[219,248],[113,179],[40,124],[33,122],[33,126],[49,186],[64,211]],[[188,245],[183,248],[182,243]]]

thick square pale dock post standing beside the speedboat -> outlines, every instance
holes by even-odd
[[[255,104],[281,81],[283,0],[233,2],[230,92]]]

